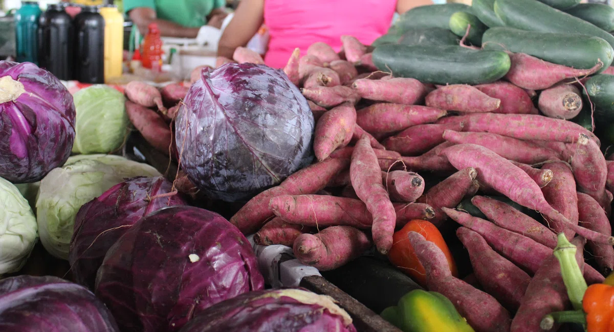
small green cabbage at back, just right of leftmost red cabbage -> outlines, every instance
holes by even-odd
[[[73,96],[77,109],[77,136],[72,153],[112,153],[119,149],[128,130],[126,99],[111,86],[93,85]]]

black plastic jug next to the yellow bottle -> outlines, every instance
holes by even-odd
[[[82,83],[104,83],[104,18],[94,6],[84,7],[75,24],[74,78]]]

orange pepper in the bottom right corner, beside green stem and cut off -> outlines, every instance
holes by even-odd
[[[614,332],[614,287],[590,285],[582,298],[588,332]]]

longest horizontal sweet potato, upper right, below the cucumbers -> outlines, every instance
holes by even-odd
[[[519,140],[542,140],[573,143],[578,135],[585,134],[596,140],[597,137],[585,127],[563,119],[547,118],[532,114],[481,113],[462,116],[448,116],[437,123],[464,123],[465,132],[489,132]]]

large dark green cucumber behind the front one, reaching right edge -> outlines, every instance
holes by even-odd
[[[614,58],[614,49],[604,39],[582,34],[524,31],[508,27],[488,29],[482,37],[487,50],[508,50],[526,53],[555,64],[589,69],[600,60],[602,71]]]

